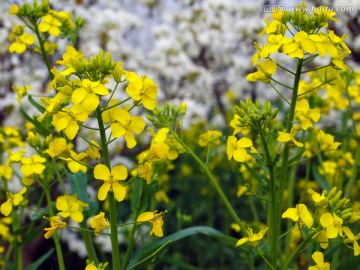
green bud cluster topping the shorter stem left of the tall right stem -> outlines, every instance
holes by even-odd
[[[273,119],[278,113],[278,108],[271,110],[271,102],[266,101],[264,106],[259,100],[254,103],[250,98],[246,99],[246,103],[240,101],[240,107],[236,107],[239,116],[239,127],[251,127],[254,130],[265,130],[268,132],[273,126]]]

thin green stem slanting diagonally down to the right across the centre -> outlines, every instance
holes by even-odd
[[[213,187],[215,188],[216,192],[218,193],[221,201],[223,202],[223,204],[225,205],[226,209],[228,210],[229,214],[231,215],[231,217],[233,218],[233,220],[240,226],[241,231],[243,232],[244,235],[247,236],[247,231],[246,228],[243,224],[243,222],[241,221],[241,219],[239,218],[239,216],[237,215],[237,213],[235,212],[234,208],[232,207],[230,201],[228,200],[228,198],[226,197],[226,195],[224,194],[223,190],[221,189],[220,185],[218,184],[217,180],[215,179],[214,175],[211,173],[211,171],[209,170],[209,168],[206,166],[206,164],[187,146],[187,144],[176,134],[176,132],[171,128],[168,127],[171,134],[174,136],[174,138],[185,148],[186,152],[190,154],[190,156],[196,161],[196,163],[199,164],[199,166],[204,170],[206,176],[208,177],[208,179],[210,180],[210,183],[213,185]]]

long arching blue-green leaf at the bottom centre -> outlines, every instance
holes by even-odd
[[[178,231],[176,233],[173,233],[171,235],[163,237],[159,240],[156,240],[156,241],[140,248],[136,252],[135,256],[130,260],[127,268],[134,266],[135,264],[137,264],[141,260],[144,260],[147,257],[150,257],[158,249],[160,249],[164,245],[167,245],[170,242],[174,243],[183,238],[186,238],[186,237],[189,237],[192,235],[196,235],[196,234],[204,234],[204,235],[209,235],[209,236],[223,235],[222,232],[215,230],[214,228],[206,227],[206,226],[196,226],[196,227],[190,227],[190,228],[183,229],[181,231]]]

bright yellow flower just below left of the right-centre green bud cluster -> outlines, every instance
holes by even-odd
[[[227,140],[226,154],[228,159],[234,158],[237,162],[246,162],[252,160],[246,148],[252,147],[253,143],[249,138],[238,140],[235,136],[229,136]]]

